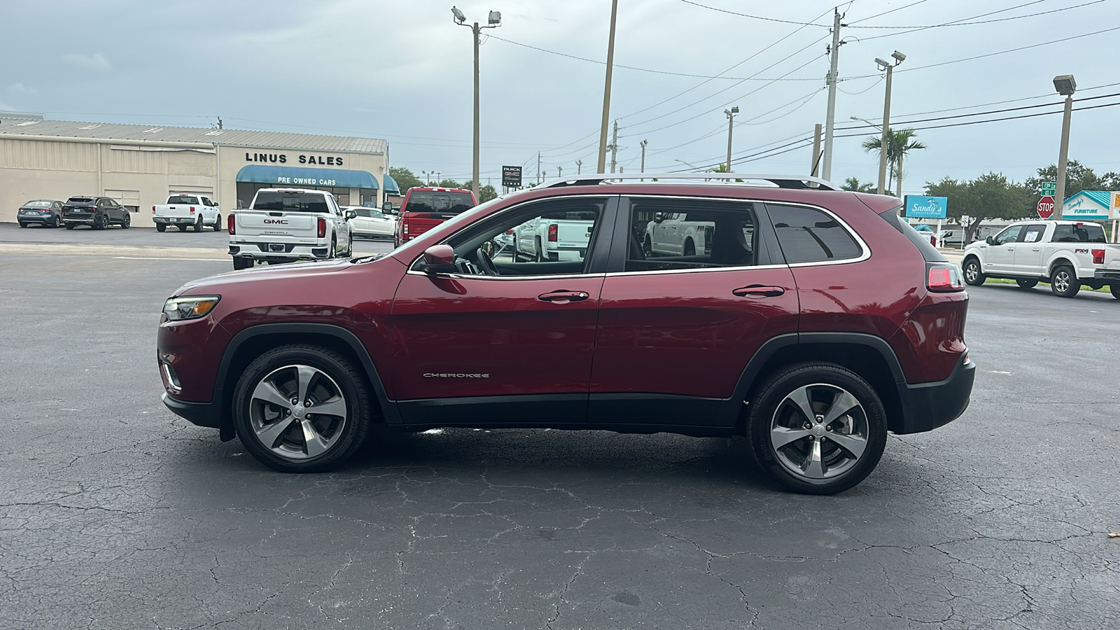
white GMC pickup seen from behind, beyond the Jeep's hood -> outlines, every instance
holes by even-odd
[[[261,188],[245,210],[230,215],[230,256],[234,269],[254,261],[295,262],[349,257],[353,210],[335,196],[304,188]]]

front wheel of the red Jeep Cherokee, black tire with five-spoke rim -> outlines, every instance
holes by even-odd
[[[315,405],[302,405],[307,400],[291,404],[288,399],[283,407],[253,396],[265,380],[282,397],[292,396],[300,374],[306,373],[312,373],[308,380],[314,386],[307,389],[307,399],[329,405],[343,415],[317,415]],[[318,397],[325,399],[316,400]],[[376,413],[365,376],[344,355],[316,345],[282,345],[261,354],[242,373],[233,395],[233,425],[242,445],[261,463],[282,472],[320,472],[337,466],[365,442]],[[286,428],[276,430],[281,425]],[[299,430],[309,425],[323,447],[316,454],[310,454]]]

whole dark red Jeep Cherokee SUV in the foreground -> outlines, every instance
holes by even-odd
[[[968,294],[898,200],[657,177],[552,182],[388,254],[190,282],[159,326],[164,401],[281,471],[335,466],[374,425],[741,434],[819,494],[866,478],[888,430],[964,411]],[[558,220],[586,225],[578,260],[512,254],[511,231]]]

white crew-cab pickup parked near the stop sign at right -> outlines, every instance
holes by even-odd
[[[1049,282],[1054,295],[1073,297],[1082,285],[1109,287],[1120,299],[1120,244],[1107,242],[1104,228],[1083,221],[1023,221],[987,241],[964,248],[964,281],[1010,278],[1023,288]]]

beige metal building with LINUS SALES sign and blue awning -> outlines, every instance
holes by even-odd
[[[389,145],[375,138],[0,112],[0,221],[15,222],[29,200],[95,195],[113,197],[137,213],[132,225],[150,228],[151,206],[170,193],[211,196],[227,214],[270,186],[329,191],[342,205],[380,206],[398,192]]]

